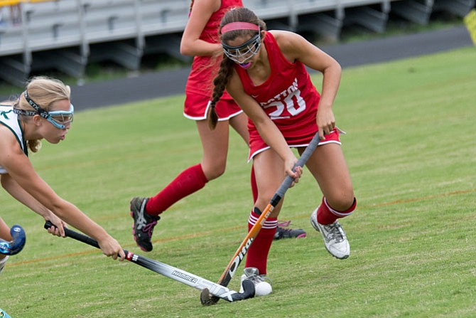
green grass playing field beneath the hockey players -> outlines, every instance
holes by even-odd
[[[4,192],[1,217],[25,228],[27,245],[0,276],[0,307],[12,318],[475,317],[475,60],[476,48],[463,48],[344,70],[334,111],[359,202],[341,222],[347,260],[310,226],[321,194],[308,172],[280,216],[308,236],[274,242],[273,294],[214,307],[202,307],[198,290],[48,235]],[[66,141],[31,160],[60,196],[145,255],[132,240],[130,198],[156,194],[201,158],[182,110],[177,96],[79,112]],[[235,133],[231,144],[225,175],[163,214],[147,257],[220,277],[251,208],[247,147]]]

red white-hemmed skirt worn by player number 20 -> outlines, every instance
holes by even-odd
[[[251,125],[254,127],[254,124]],[[261,136],[258,133],[258,130],[256,130],[256,127],[254,129],[251,128],[250,124],[248,124],[248,130],[249,130],[249,156],[248,156],[248,161],[251,161],[256,154],[259,154],[260,152],[264,152],[267,149],[270,149],[271,147],[266,144],[266,142],[261,139]],[[299,137],[296,136],[286,136],[283,134],[284,139],[286,139],[286,142],[288,143],[288,146],[290,148],[298,148],[298,147],[307,147],[308,144],[310,143],[311,139],[315,136],[316,132],[318,132],[317,129],[317,124],[315,125],[315,129],[309,129],[308,134],[301,135]],[[322,146],[323,144],[341,144],[340,139],[339,139],[339,130],[336,128],[332,129],[332,132],[330,134],[325,135],[325,140],[322,142],[319,142],[319,146]]]

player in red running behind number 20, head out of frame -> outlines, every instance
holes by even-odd
[[[212,80],[220,65],[222,46],[218,35],[220,21],[226,11],[242,7],[242,0],[195,0],[190,5],[190,17],[183,32],[180,53],[194,56],[192,70],[185,87],[183,115],[197,123],[203,156],[199,164],[183,170],[151,198],[132,198],[130,209],[134,218],[136,244],[146,252],[152,250],[153,228],[160,214],[173,203],[202,189],[208,181],[225,173],[229,143],[229,126],[248,144],[247,116],[227,92],[215,102],[219,117],[215,130],[207,124],[207,112],[212,96]],[[257,198],[256,180],[251,171],[251,189]],[[285,223],[288,226],[288,223]],[[278,228],[276,239],[304,237],[301,229]]]

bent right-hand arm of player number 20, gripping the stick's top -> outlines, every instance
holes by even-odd
[[[327,53],[309,43],[296,33],[287,31],[272,31],[278,41],[279,48],[289,61],[299,60],[313,70],[323,73],[323,88],[320,95],[317,123],[320,138],[335,127],[335,117],[332,112],[337,90],[340,85],[340,64]]]

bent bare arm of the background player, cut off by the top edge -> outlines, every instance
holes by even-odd
[[[220,9],[220,5],[220,0],[195,0],[192,13],[183,31],[182,41],[180,41],[180,54],[212,56],[221,53],[222,46],[219,43],[200,40],[200,34],[210,16]]]

